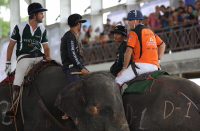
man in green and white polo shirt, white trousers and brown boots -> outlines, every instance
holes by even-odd
[[[13,48],[16,45],[17,66],[15,79],[13,83],[13,101],[15,102],[19,96],[20,86],[23,82],[27,68],[35,61],[40,61],[45,56],[46,60],[51,60],[50,48],[46,38],[46,29],[42,24],[44,18],[44,9],[40,3],[31,3],[28,6],[29,20],[19,23],[15,26],[10,43],[7,49],[6,74],[11,72],[11,56]],[[42,53],[42,46],[44,54]],[[6,113],[8,116],[13,116],[13,111]]]

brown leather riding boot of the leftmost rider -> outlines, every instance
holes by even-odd
[[[12,108],[6,112],[6,115],[9,117],[13,117],[15,115],[15,110],[16,110],[16,104],[15,101],[17,100],[18,96],[19,96],[19,92],[20,92],[20,86],[13,86],[13,106]]]

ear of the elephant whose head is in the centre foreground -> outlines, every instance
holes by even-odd
[[[55,106],[66,113],[73,120],[85,111],[84,80],[79,80],[67,85],[57,96]]]

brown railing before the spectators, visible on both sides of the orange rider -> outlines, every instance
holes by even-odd
[[[165,53],[200,48],[200,25],[193,23],[189,26],[178,25],[155,30],[166,44]],[[114,61],[118,46],[114,41],[104,45],[101,43],[89,45],[83,49],[84,63],[88,65]]]

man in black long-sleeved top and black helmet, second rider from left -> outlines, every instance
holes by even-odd
[[[86,20],[82,20],[82,16],[79,14],[70,15],[68,17],[70,30],[67,31],[61,39],[60,54],[63,72],[67,75],[69,83],[80,79],[78,74],[71,74],[72,72],[81,71],[84,75],[89,73],[82,61],[82,44],[78,38],[82,23],[85,22]],[[72,67],[70,67],[71,65]]]

